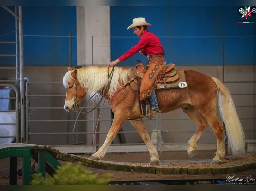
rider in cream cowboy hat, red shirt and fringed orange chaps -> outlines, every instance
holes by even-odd
[[[118,59],[111,61],[109,66],[114,66],[117,63],[131,57],[135,53],[139,52],[141,55],[148,57],[147,66],[148,70],[144,75],[141,87],[140,87],[140,100],[144,100],[149,97],[151,104],[152,116],[160,115],[161,111],[158,107],[158,101],[155,94],[155,88],[157,86],[157,79],[165,71],[165,59],[164,50],[159,38],[148,31],[147,26],[152,25],[146,22],[143,17],[134,18],[132,24],[127,28],[134,29],[134,34],[141,37],[138,44],[133,46],[130,50],[120,56]]]

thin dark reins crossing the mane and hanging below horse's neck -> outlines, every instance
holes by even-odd
[[[111,83],[111,80],[112,80],[112,77],[113,77],[113,74],[114,74],[114,67],[115,67],[115,66],[113,66],[113,69],[112,69],[112,71],[111,71],[110,73],[109,73],[109,67],[108,67],[108,78],[109,78],[110,75],[111,75],[110,83]],[[97,94],[97,93],[98,93],[98,92],[95,92],[94,95]],[[99,102],[98,102],[98,103],[96,104],[96,106],[94,106],[90,111],[82,112],[82,110],[83,110],[83,108],[85,107],[85,105],[94,97],[94,95],[92,95],[92,96],[88,99],[88,101],[86,101],[86,103],[83,105],[83,107],[82,107],[82,108],[80,109],[80,111],[78,112],[76,121],[75,121],[75,123],[74,123],[73,132],[75,132],[75,126],[76,126],[77,119],[78,119],[80,113],[83,113],[84,116],[85,116],[87,113],[90,113],[91,111],[93,111],[94,109],[96,109],[96,107],[98,107],[99,104],[101,103],[101,101],[102,101],[102,99],[103,99],[103,96],[101,96],[101,99],[99,100]],[[97,125],[98,125],[98,123],[99,123],[99,119],[100,119],[100,116],[101,116],[101,111],[102,111],[102,109],[103,109],[103,106],[104,106],[104,104],[105,104],[105,101],[106,101],[106,99],[105,99],[104,102],[103,102],[103,105],[102,105],[102,107],[101,107],[101,110],[100,110],[100,114],[99,114],[97,123],[96,123],[96,125],[95,125],[93,141],[94,141],[94,138],[95,138],[96,128],[97,128]],[[86,116],[85,116],[85,118],[86,118]]]

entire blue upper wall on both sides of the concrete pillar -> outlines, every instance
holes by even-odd
[[[255,64],[256,38],[249,37],[256,36],[256,24],[237,24],[238,20],[245,21],[237,9],[236,6],[111,6],[111,60],[137,44],[139,37],[127,27],[133,18],[145,17],[153,25],[148,29],[159,36],[163,44],[167,63],[222,65],[222,36],[228,36],[225,37],[225,64]],[[248,19],[256,21],[256,16]],[[14,17],[0,7],[0,41],[14,41],[14,33],[3,36],[14,30]],[[68,65],[67,36],[70,32],[76,36],[76,7],[23,6],[23,32],[25,65]],[[0,54],[14,53],[14,45],[0,44]],[[72,65],[77,64],[76,58],[76,37],[73,37]],[[146,57],[137,53],[119,65],[134,65],[138,59],[146,62]],[[0,57],[0,65],[14,64],[14,58]]]

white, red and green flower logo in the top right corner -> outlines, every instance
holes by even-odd
[[[241,21],[238,21],[237,23],[255,23],[255,20],[249,20],[249,19],[252,19],[252,16],[256,16],[255,6],[238,7],[237,13],[241,16],[241,19],[243,18]]]

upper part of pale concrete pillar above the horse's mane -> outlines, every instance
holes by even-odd
[[[110,62],[110,7],[77,6],[77,65]]]

